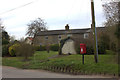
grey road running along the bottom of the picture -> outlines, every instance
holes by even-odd
[[[2,78],[111,78],[111,77],[100,75],[69,75],[45,70],[25,70],[3,66]]]

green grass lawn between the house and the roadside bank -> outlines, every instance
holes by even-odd
[[[85,64],[82,64],[82,55],[69,55],[58,58],[50,58],[57,55],[58,52],[37,51],[30,61],[23,62],[22,57],[4,57],[2,64],[27,69],[41,69],[41,66],[67,67],[77,71],[86,71],[92,73],[118,74],[118,64],[115,62],[114,55],[99,55],[99,63],[94,62],[94,55],[85,55]]]

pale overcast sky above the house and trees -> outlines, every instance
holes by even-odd
[[[102,27],[105,16],[102,0],[94,0],[96,26]],[[26,37],[27,24],[42,18],[48,30],[90,28],[90,0],[0,0],[0,18],[5,30],[16,39]]]

